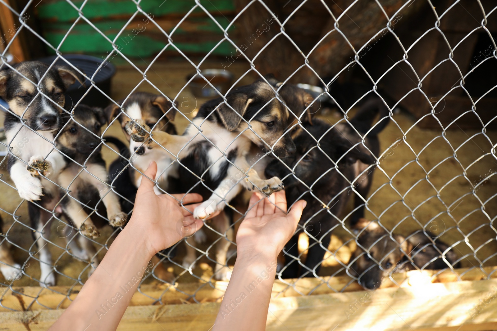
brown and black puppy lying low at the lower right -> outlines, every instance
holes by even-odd
[[[418,230],[407,239],[392,234],[392,240],[377,222],[362,218],[354,226],[354,232],[358,233],[358,246],[349,270],[365,289],[379,288],[383,279],[393,272],[460,267],[457,255],[429,231]]]

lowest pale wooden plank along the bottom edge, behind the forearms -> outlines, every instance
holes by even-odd
[[[494,279],[273,298],[266,330],[495,330],[496,296]],[[219,303],[130,306],[117,330],[209,330],[219,309]],[[62,312],[5,312],[0,324],[6,330],[42,331]]]

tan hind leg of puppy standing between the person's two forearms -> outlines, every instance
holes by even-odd
[[[226,238],[221,238],[216,244],[216,266],[214,268],[214,279],[228,281],[231,277],[231,270],[226,265],[228,249],[233,241],[233,228],[230,227],[230,220],[225,212],[214,216],[213,225],[219,233],[226,234]]]

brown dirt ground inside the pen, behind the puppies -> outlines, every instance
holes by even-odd
[[[202,68],[220,67],[218,63],[205,63]],[[145,69],[144,66],[140,67]],[[229,70],[235,77],[241,77],[248,66],[234,63]],[[173,98],[183,88],[185,77],[194,72],[193,67],[186,62],[158,63],[148,72],[147,79],[153,82],[166,95]],[[252,73],[244,76],[240,84],[250,83],[255,76]],[[155,88],[144,80],[143,75],[131,66],[119,66],[112,81],[112,97],[115,100],[126,97],[135,86],[137,90],[156,92]],[[195,109],[207,99],[195,98],[188,87],[177,97],[179,109],[185,115],[176,115],[175,123],[182,132],[187,118],[193,117]],[[106,105],[102,105],[106,106]],[[352,111],[353,113],[353,111]],[[2,116],[2,114],[0,114]],[[335,123],[343,116],[329,112],[319,118]],[[2,122],[2,119],[0,119]],[[483,179],[496,172],[497,161],[491,155],[492,145],[497,141],[497,132],[451,130],[442,131],[421,130],[415,125],[414,118],[404,112],[396,112],[393,121],[380,133],[381,150],[385,151],[380,167],[375,171],[368,204],[367,217],[380,219],[388,229],[408,235],[417,229],[425,227],[435,234],[442,234],[441,240],[455,245],[455,252],[464,257],[463,267],[478,265],[497,265],[496,230],[492,220],[497,215],[496,178],[482,182]],[[124,135],[117,124],[112,125],[105,135],[114,135],[124,140]],[[104,147],[102,149],[107,165],[116,154]],[[0,178],[12,185],[6,171],[5,162],[0,169]],[[478,183],[480,185],[474,189]],[[14,244],[12,248],[14,260],[26,263],[25,276],[16,280],[13,285],[38,285],[32,278],[38,278],[39,264],[36,246],[30,233],[26,202],[21,203],[16,191],[0,182],[0,211],[5,221],[4,233]],[[349,206],[348,211],[351,209]],[[348,212],[347,211],[347,212]],[[11,216],[16,215],[16,220]],[[56,264],[57,284],[74,285],[84,282],[87,278],[88,265],[76,261],[65,250],[66,242],[62,238],[65,223],[54,220],[50,251]],[[99,258],[105,254],[106,247],[113,240],[114,230],[104,229],[102,236],[95,242],[98,246]],[[214,239],[213,233],[210,239]],[[347,263],[355,249],[355,242],[341,227],[332,235],[328,259],[324,263],[321,275],[342,273],[342,267],[337,262]],[[198,249],[205,251],[208,243],[200,244]],[[299,243],[300,249],[305,249],[303,237]],[[193,270],[193,275],[182,269],[179,264],[184,248],[178,246],[174,261],[167,262],[170,271],[178,275],[179,282],[194,282],[203,279],[208,281],[212,276],[213,263],[203,257]],[[30,252],[30,253],[29,253]],[[212,254],[209,255],[212,257]],[[234,261],[231,260],[231,263]],[[0,275],[0,282],[3,278]],[[149,276],[145,282],[156,282]]]

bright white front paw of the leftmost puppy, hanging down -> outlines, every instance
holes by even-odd
[[[43,186],[38,177],[31,176],[26,170],[26,165],[16,160],[10,168],[10,178],[15,184],[15,188],[21,199],[28,201],[39,200],[43,195]]]

